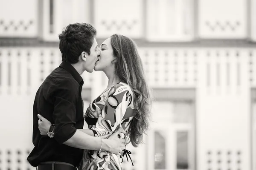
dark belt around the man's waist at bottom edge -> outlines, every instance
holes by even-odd
[[[43,162],[38,165],[38,170],[76,170],[73,164],[66,162]]]

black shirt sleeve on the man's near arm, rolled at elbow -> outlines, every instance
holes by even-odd
[[[72,82],[59,82],[61,85],[53,94],[53,121],[54,139],[62,144],[70,139],[75,133],[76,128],[76,102],[78,91]]]

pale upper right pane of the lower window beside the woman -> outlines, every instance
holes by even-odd
[[[173,121],[175,123],[191,123],[192,105],[189,102],[175,102]]]

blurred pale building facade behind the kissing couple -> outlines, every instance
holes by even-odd
[[[35,169],[35,92],[76,22],[98,44],[132,38],[154,90],[151,129],[123,170],[256,170],[256,0],[0,0],[0,170]],[[107,79],[82,77],[86,110]]]

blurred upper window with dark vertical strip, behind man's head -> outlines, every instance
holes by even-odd
[[[58,42],[58,34],[71,23],[90,23],[88,0],[38,0],[39,37]]]

